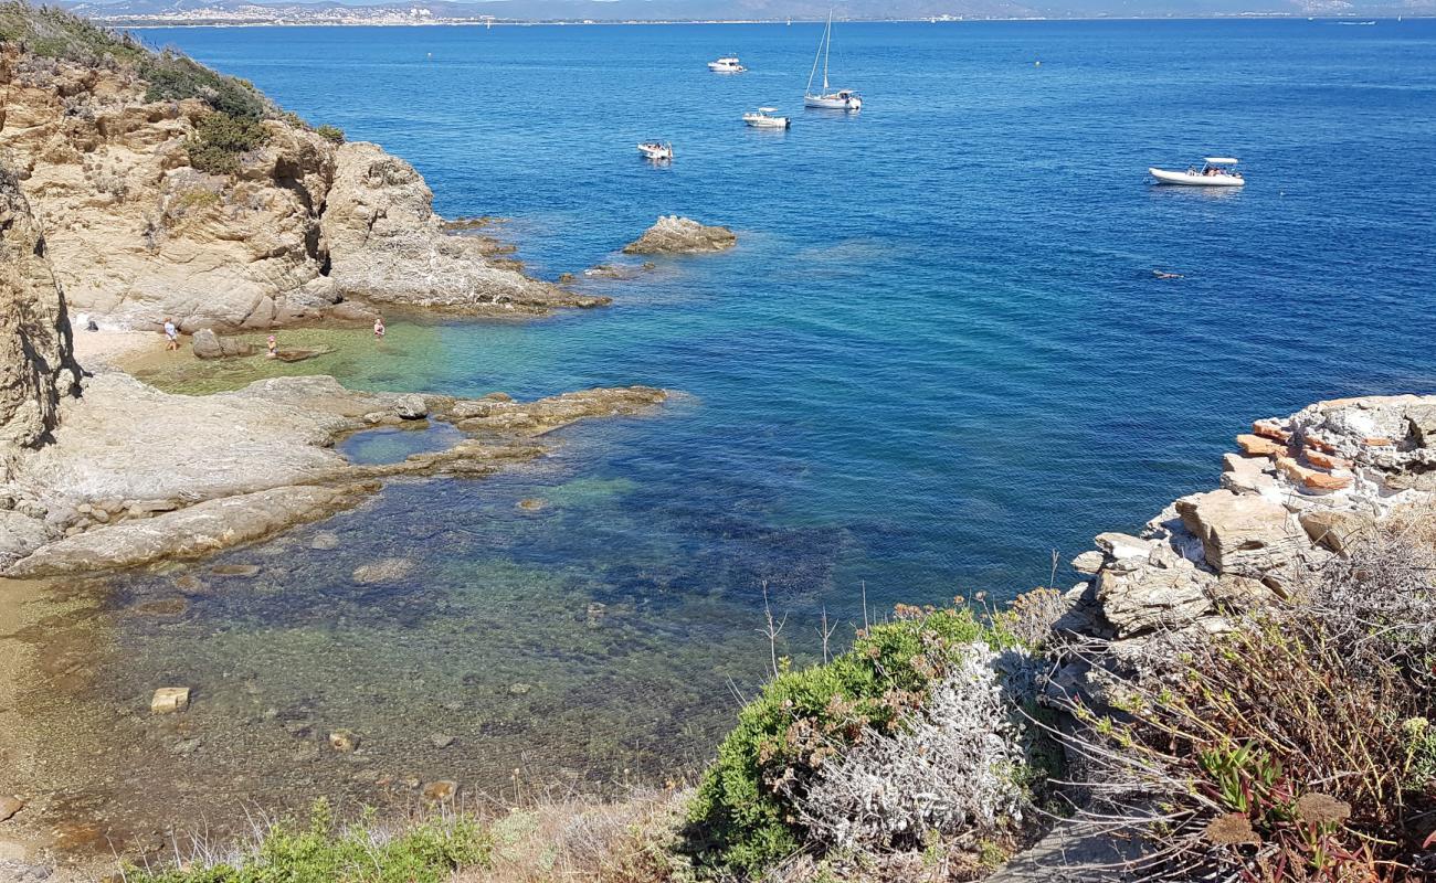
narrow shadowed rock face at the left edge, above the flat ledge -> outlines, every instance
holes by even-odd
[[[60,399],[78,383],[45,235],[14,175],[0,168],[0,480],[16,448],[55,429]]]

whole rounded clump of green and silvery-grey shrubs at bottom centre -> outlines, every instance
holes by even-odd
[[[780,671],[698,787],[699,866],[757,879],[800,851],[956,837],[1001,854],[1051,772],[1020,714],[1030,665],[1001,620],[955,607],[899,609],[831,662]]]

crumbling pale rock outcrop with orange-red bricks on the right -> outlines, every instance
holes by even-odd
[[[1175,501],[1140,537],[1100,534],[1074,566],[1057,629],[1109,642],[1073,660],[1053,689],[1101,701],[1111,676],[1159,659],[1173,630],[1222,630],[1287,597],[1331,556],[1348,554],[1400,511],[1436,505],[1436,396],[1317,402],[1262,419],[1226,454],[1221,490]],[[1094,669],[1094,662],[1097,668]]]

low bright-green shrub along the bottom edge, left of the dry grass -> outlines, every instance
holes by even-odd
[[[470,818],[435,818],[392,837],[376,834],[373,817],[337,828],[317,801],[309,826],[280,823],[253,853],[231,863],[191,863],[125,873],[126,883],[444,883],[455,870],[490,863],[488,836]]]

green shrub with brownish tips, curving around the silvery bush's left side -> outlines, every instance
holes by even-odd
[[[900,607],[898,619],[860,632],[833,662],[768,683],[738,714],[689,807],[698,864],[755,877],[797,851],[804,830],[796,807],[816,770],[867,728],[895,731],[974,640],[1014,643],[968,609]]]

